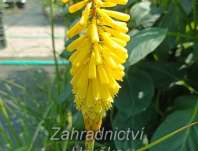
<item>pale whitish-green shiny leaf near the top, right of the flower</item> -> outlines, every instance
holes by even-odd
[[[151,27],[159,19],[161,12],[150,1],[143,1],[135,4],[130,14],[136,27]]]

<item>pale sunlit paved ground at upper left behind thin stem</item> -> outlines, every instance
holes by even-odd
[[[4,11],[7,47],[0,50],[0,59],[51,58],[50,23],[45,16],[41,0],[28,0],[23,10],[14,8]],[[64,48],[64,27],[56,24],[56,49]]]

